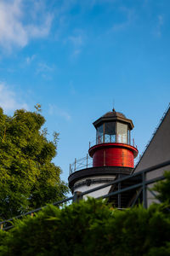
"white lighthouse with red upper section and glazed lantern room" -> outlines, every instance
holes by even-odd
[[[89,143],[88,154],[81,160],[75,159],[70,166],[69,187],[72,194],[94,189],[105,183],[111,183],[120,177],[133,172],[134,158],[138,149],[131,139],[133,121],[120,112],[112,109],[94,121],[96,138]],[[133,180],[133,183],[138,181]],[[126,187],[129,184],[122,183]],[[97,198],[116,189],[114,185],[89,193],[88,196]],[[134,191],[114,198],[116,207],[128,207]]]

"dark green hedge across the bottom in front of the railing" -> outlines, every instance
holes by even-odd
[[[161,207],[119,211],[88,199],[16,221],[0,233],[0,255],[166,256],[169,236],[170,219]]]

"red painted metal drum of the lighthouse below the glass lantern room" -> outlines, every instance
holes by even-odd
[[[134,158],[138,149],[122,143],[102,143],[89,148],[88,153],[93,157],[93,166],[122,166],[134,167]]]

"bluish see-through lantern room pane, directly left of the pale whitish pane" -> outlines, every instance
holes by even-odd
[[[105,143],[116,143],[116,123],[105,123]]]

